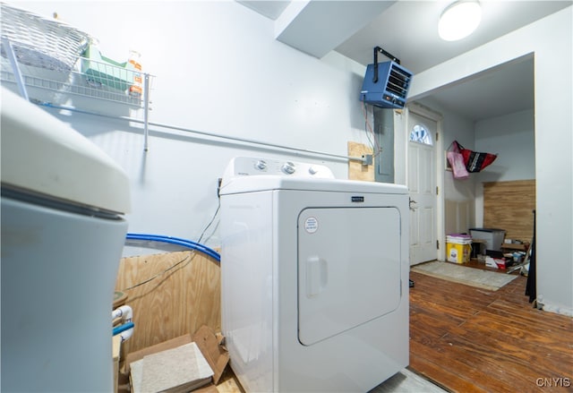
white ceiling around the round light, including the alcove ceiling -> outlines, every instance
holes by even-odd
[[[414,74],[573,4],[573,0],[482,0],[482,22],[475,33],[447,42],[438,37],[438,19],[454,0],[237,1],[274,20],[278,40],[313,56],[336,50],[366,65],[372,63],[372,49],[378,46]],[[385,61],[384,56],[379,61]],[[533,56],[526,57],[454,83],[431,97],[473,121],[530,109],[533,67]]]

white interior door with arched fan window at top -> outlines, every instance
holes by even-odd
[[[408,111],[408,177],[410,192],[410,265],[433,261],[437,247],[437,123]]]

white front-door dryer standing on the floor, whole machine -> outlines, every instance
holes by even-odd
[[[405,186],[234,158],[220,187],[222,330],[250,392],[366,392],[408,364]]]

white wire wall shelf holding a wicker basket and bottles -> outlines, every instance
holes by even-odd
[[[141,73],[139,64],[118,64],[100,56],[91,45],[94,38],[60,21],[6,4],[0,4],[0,10],[3,84],[17,84],[21,74],[30,100],[42,103],[61,105],[87,97],[130,107],[144,105],[144,83],[150,84],[152,77]],[[11,54],[18,70],[9,60]],[[149,102],[149,97],[144,99]]]

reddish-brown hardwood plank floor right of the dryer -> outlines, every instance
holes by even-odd
[[[498,291],[410,278],[411,370],[453,392],[573,391],[573,319],[534,309],[525,277]]]

